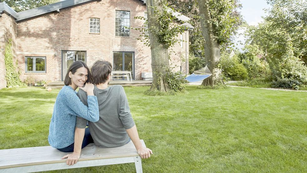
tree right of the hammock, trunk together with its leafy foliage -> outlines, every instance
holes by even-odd
[[[242,23],[237,11],[237,0],[199,0],[201,31],[204,38],[205,61],[212,72],[202,85],[222,83],[220,62],[221,46],[229,46],[231,38]]]

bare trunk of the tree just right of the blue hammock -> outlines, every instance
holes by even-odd
[[[215,38],[214,26],[210,23],[210,12],[209,5],[206,3],[207,0],[199,0],[199,15],[201,17],[201,33],[205,39],[204,49],[205,49],[205,61],[208,64],[208,69],[211,71],[212,75],[203,80],[201,85],[213,86],[216,84],[223,83],[221,75],[222,71],[217,65],[220,62],[220,44]]]

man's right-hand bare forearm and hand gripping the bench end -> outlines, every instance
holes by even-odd
[[[126,129],[126,132],[128,133],[129,137],[131,138],[137,154],[141,156],[142,159],[147,159],[150,157],[150,154],[152,154],[151,149],[146,148],[142,145],[141,140],[139,138],[139,134],[137,133],[136,125],[134,125],[130,129]]]

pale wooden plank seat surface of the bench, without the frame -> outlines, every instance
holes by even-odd
[[[143,140],[141,140],[141,143],[146,147]],[[11,153],[9,150],[11,150]],[[0,150],[0,170],[19,166],[66,162],[66,159],[61,159],[65,154],[68,153],[50,148],[50,146]],[[82,149],[79,161],[129,156],[139,156],[132,141],[115,148],[99,148],[92,143]]]

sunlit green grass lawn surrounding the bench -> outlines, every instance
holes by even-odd
[[[196,89],[146,96],[125,88],[139,135],[154,155],[148,173],[307,172],[307,93],[256,88]],[[59,90],[0,90],[0,149],[48,145]],[[49,172],[132,173],[134,164]]]

